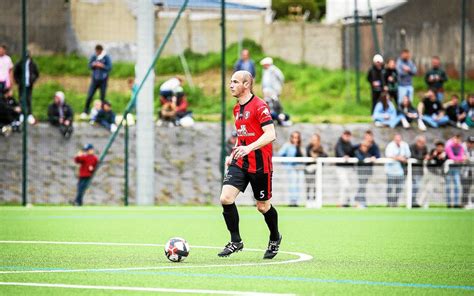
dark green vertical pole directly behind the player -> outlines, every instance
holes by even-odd
[[[220,157],[220,169],[221,169],[221,179],[224,179],[225,174],[225,92],[226,92],[226,79],[225,79],[225,49],[226,49],[226,40],[225,40],[225,1],[221,0],[221,157]]]

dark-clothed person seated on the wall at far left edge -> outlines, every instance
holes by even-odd
[[[21,107],[13,97],[0,93],[0,129],[4,136],[21,130]]]

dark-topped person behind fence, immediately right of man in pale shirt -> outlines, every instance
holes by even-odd
[[[423,178],[423,162],[428,159],[428,147],[426,146],[425,136],[417,136],[415,143],[410,145],[411,158],[417,160],[412,165],[412,207],[419,208],[419,204],[416,201],[418,191]]]

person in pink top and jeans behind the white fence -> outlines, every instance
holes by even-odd
[[[459,204],[459,191],[461,190],[461,164],[466,160],[461,135],[455,135],[446,142],[446,156],[452,163],[449,164],[446,181],[446,202],[448,208],[461,207]],[[454,185],[454,204],[451,204],[451,183]]]

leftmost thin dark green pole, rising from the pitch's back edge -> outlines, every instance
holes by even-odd
[[[21,109],[23,110],[23,164],[22,164],[22,205],[26,206],[28,200],[28,110],[26,104],[26,54],[27,54],[27,36],[26,36],[26,0],[21,1],[21,35],[22,35],[22,96]],[[11,82],[13,85],[13,81]]]

